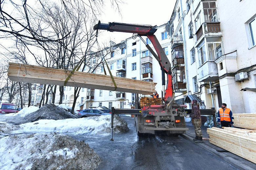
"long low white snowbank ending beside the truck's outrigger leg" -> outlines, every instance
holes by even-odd
[[[88,133],[108,135],[111,132],[111,115],[92,116],[79,119],[64,120],[38,120],[36,122],[25,123],[20,125],[19,130],[13,133]],[[114,133],[128,132],[127,122],[118,115],[114,116]]]

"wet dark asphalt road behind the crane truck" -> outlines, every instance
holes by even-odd
[[[102,158],[97,170],[236,169],[181,136],[157,134],[137,137],[133,119],[124,118],[130,131],[114,134],[114,141],[110,141],[111,136],[73,136],[89,143]]]

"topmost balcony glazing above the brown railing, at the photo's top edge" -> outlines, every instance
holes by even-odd
[[[216,2],[203,2],[203,15],[205,22],[218,22]]]

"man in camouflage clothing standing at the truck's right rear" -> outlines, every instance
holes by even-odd
[[[201,130],[202,121],[201,121],[199,104],[197,103],[197,100],[192,100],[191,105],[192,105],[192,112],[190,114],[190,117],[193,120],[193,125],[196,133],[196,137],[195,139],[193,139],[193,141],[195,141],[196,143],[203,143],[203,134]]]

